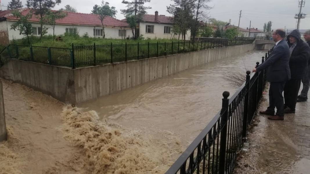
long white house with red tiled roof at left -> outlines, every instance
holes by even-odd
[[[27,15],[30,9],[23,8],[19,10],[22,15]],[[12,10],[0,11],[0,44],[6,45],[9,40],[21,39],[24,36],[19,34],[19,31],[12,30],[11,24],[18,19],[11,14]],[[40,36],[40,23],[37,15],[33,15],[30,19],[33,27],[34,36]],[[112,18],[105,17],[104,21],[105,38],[121,39],[124,37],[131,37],[131,28],[128,23]],[[53,30],[49,25],[44,25],[47,28],[47,34],[53,34]],[[78,33],[83,36],[87,34],[89,37],[103,37],[103,27],[98,15],[67,12],[67,16],[63,19],[56,20],[55,35],[61,35],[65,32]]]

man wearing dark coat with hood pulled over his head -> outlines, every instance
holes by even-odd
[[[293,30],[287,36],[287,43],[291,53],[291,79],[285,83],[284,87],[284,113],[295,113],[301,79],[305,76],[308,68],[310,48],[306,42],[301,40],[298,30]]]

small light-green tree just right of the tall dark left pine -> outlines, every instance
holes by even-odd
[[[67,16],[67,13],[65,11],[47,11],[47,13],[43,17],[44,23],[50,25],[51,29],[53,29],[53,40],[55,39],[55,26],[56,26],[56,20],[62,19]]]

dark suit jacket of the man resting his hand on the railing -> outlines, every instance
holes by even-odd
[[[269,82],[286,82],[290,79],[290,48],[286,41],[281,40],[273,49],[270,57],[256,68],[256,71],[267,69]]]

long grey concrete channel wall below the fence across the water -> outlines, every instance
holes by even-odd
[[[0,76],[60,101],[78,104],[254,49],[255,44],[237,45],[74,70],[10,60],[0,68]]]

